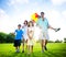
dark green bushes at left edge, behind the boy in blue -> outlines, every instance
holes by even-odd
[[[13,43],[14,35],[0,32],[0,43]]]

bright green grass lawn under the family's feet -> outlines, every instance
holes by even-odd
[[[66,57],[66,43],[48,43],[48,50],[44,53],[41,53],[41,45],[36,43],[31,55],[28,55],[26,49],[22,53],[22,46],[20,49],[21,53],[18,54],[13,44],[0,44],[0,57]]]

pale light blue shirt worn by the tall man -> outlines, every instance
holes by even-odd
[[[46,18],[44,18],[44,21],[42,20],[42,18],[40,18],[36,22],[36,24],[43,30],[43,31],[47,31],[48,29],[48,21]]]

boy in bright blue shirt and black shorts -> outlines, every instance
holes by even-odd
[[[15,35],[14,47],[16,49],[16,53],[20,53],[21,39],[23,35],[23,31],[21,30],[21,24],[18,25],[18,30],[15,30],[14,35]]]

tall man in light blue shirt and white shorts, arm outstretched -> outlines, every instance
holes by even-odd
[[[42,44],[42,53],[44,53],[44,49],[47,50],[46,44],[48,41],[48,29],[54,30],[57,32],[59,29],[54,29],[48,24],[48,21],[46,18],[44,18],[44,12],[41,12],[41,18],[36,22],[36,25],[41,29],[40,39]]]

